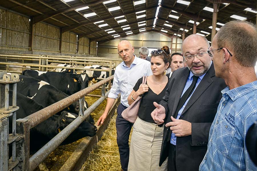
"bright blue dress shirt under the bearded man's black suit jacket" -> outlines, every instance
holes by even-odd
[[[205,73],[205,74],[206,74],[206,73]],[[203,74],[202,76],[200,76],[200,77],[198,78],[198,80],[197,80],[197,82],[196,82],[196,85],[195,85],[195,87],[194,87],[194,90],[195,90],[196,87],[199,85],[199,83],[202,81],[202,78],[205,76],[205,74]],[[189,74],[189,76],[188,76],[188,78],[187,78],[186,85],[185,85],[185,87],[184,87],[184,90],[183,90],[183,92],[182,92],[182,95],[186,92],[186,90],[187,90],[187,89],[190,87],[190,85],[192,84],[192,82],[193,82],[193,76],[194,76],[194,74],[190,71],[190,74]],[[194,93],[194,90],[193,90],[192,94]],[[179,119],[179,117],[180,117],[182,111],[183,111],[184,108],[186,107],[186,104],[187,104],[187,102],[189,101],[189,99],[191,98],[192,94],[187,98],[187,100],[186,100],[186,102],[184,103],[184,105],[183,105],[183,106],[181,107],[181,109],[178,111],[178,116],[177,116],[176,119]],[[181,95],[181,97],[182,97],[182,95]],[[180,97],[180,98],[181,98],[181,97]],[[176,138],[175,134],[174,134],[174,133],[171,133],[170,143],[173,144],[173,145],[176,145],[176,139],[177,139],[177,138]]]

